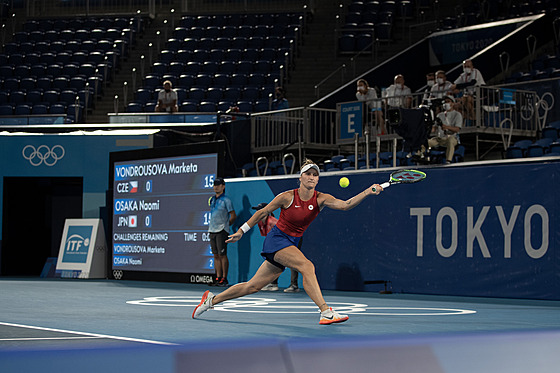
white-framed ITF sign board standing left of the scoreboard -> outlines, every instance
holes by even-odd
[[[56,271],[67,278],[105,278],[107,243],[101,219],[66,219]]]

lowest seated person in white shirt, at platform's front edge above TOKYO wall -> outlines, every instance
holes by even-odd
[[[463,126],[463,116],[455,110],[455,99],[453,96],[446,96],[444,101],[444,111],[436,117],[431,132],[433,137],[428,140],[428,146],[430,148],[445,146],[445,159],[450,163],[453,160],[455,147],[459,143],[458,133]]]

